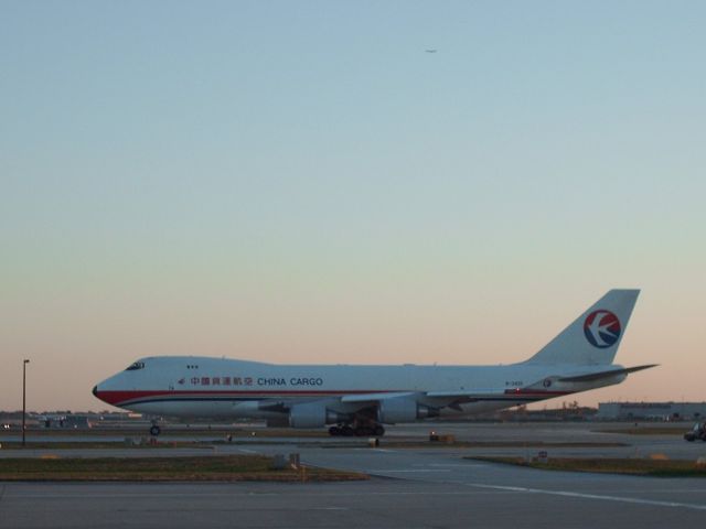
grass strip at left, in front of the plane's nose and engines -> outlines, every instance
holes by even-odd
[[[364,474],[329,468],[272,469],[272,458],[261,455],[0,458],[0,481],[338,482],[366,478]]]

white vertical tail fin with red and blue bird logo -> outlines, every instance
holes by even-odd
[[[639,290],[610,290],[527,364],[612,364]]]

